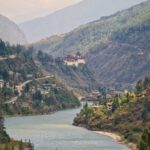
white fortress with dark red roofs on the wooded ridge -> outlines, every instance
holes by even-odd
[[[59,61],[63,61],[66,66],[76,66],[85,64],[85,57],[81,55],[68,55],[66,57],[57,58]]]

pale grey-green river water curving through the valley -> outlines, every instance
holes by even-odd
[[[31,139],[35,150],[129,150],[113,139],[72,126],[79,109],[51,115],[5,119],[7,132],[15,139]]]

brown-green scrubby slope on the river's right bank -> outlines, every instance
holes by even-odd
[[[85,105],[74,119],[74,124],[90,130],[119,133],[128,142],[146,145],[149,142],[149,129],[144,128],[150,125],[149,79],[150,77],[145,77],[143,81],[138,81],[135,92],[116,95],[98,106]]]

